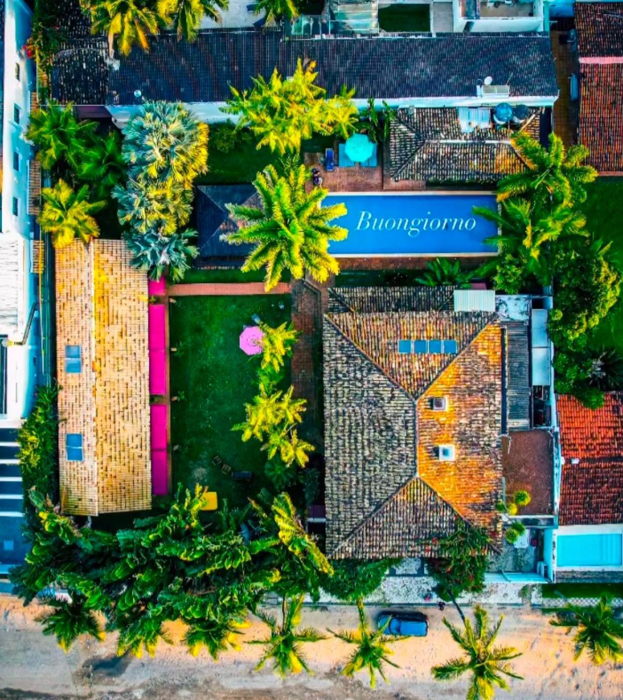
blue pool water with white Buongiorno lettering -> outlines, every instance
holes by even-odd
[[[497,227],[472,207],[496,207],[495,195],[469,194],[330,194],[325,204],[344,202],[348,214],[332,223],[349,230],[344,241],[330,244],[337,256],[491,255],[484,239]]]

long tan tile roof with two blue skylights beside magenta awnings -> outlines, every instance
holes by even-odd
[[[123,241],[78,241],[56,251],[59,469],[64,510],[76,514],[151,507],[147,279]],[[80,346],[81,371],[65,370]],[[66,458],[66,435],[83,461]]]

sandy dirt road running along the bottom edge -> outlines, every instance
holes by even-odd
[[[375,617],[380,608],[370,608]],[[155,658],[117,657],[115,638],[103,643],[87,640],[64,654],[55,640],[44,637],[34,617],[36,604],[23,608],[20,601],[0,596],[0,699],[1,700],[438,700],[465,696],[466,682],[440,683],[430,667],[456,656],[456,647],[442,625],[445,614],[459,622],[454,609],[441,613],[426,610],[430,631],[425,639],[395,645],[389,668],[391,685],[379,682],[367,687],[365,676],[347,680],[339,675],[348,645],[330,639],[306,645],[314,675],[302,673],[282,681],[269,669],[255,672],[261,647],[243,645],[241,652],[223,654],[215,664],[207,654],[191,657],[179,645],[161,644]],[[588,659],[573,663],[571,640],[563,629],[547,624],[547,617],[528,608],[491,609],[503,612],[500,643],[524,652],[515,670],[524,680],[512,681],[513,700],[572,700],[623,698],[623,665],[594,668]],[[335,606],[306,610],[303,624],[317,629],[350,629],[356,626],[356,610]],[[182,629],[171,629],[179,640]],[[246,638],[265,632],[253,619]],[[498,692],[497,697],[511,697]]]

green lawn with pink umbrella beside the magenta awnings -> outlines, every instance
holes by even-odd
[[[253,314],[279,325],[290,318],[290,297],[178,297],[169,316],[171,345],[178,349],[172,354],[171,391],[183,395],[171,404],[172,443],[179,445],[173,482],[207,485],[220,502],[227,498],[232,505],[245,505],[248,496],[269,486],[260,444],[242,442],[231,430],[244,419],[244,402],[257,392],[257,360],[239,349],[240,332],[253,323]],[[233,470],[251,470],[251,484],[223,475],[212,465],[215,454]]]

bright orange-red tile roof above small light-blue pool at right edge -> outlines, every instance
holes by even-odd
[[[605,393],[603,407],[589,409],[559,395],[562,470],[561,525],[623,522],[623,392]],[[578,463],[572,463],[573,460]]]

